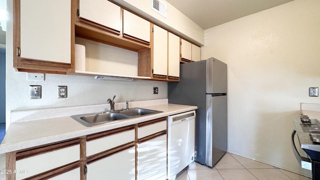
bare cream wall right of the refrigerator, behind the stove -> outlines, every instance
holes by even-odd
[[[228,64],[228,151],[310,175],[290,134],[300,102],[319,103],[320,1],[294,0],[205,30],[201,58]]]

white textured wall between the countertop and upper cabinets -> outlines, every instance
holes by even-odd
[[[167,82],[160,81],[96,80],[89,76],[58,74],[45,74],[44,81],[26,80],[26,72],[16,72],[13,68],[12,0],[7,0],[7,11],[9,18],[6,34],[6,129],[10,125],[11,110],[101,104],[106,103],[107,98],[113,97],[114,94],[115,102],[167,98]],[[136,53],[118,49],[113,51],[118,54],[112,56],[137,59]],[[42,86],[42,98],[29,99],[29,85],[37,84]],[[57,98],[57,85],[68,86],[67,98]],[[158,94],[153,94],[153,86],[158,87]]]

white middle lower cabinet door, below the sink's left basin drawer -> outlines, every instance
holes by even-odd
[[[134,179],[135,147],[87,164],[87,180],[97,179]]]

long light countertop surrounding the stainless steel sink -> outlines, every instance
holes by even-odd
[[[197,106],[163,103],[143,106],[143,108],[159,110],[163,112],[90,127],[80,124],[70,116],[16,121],[11,123],[8,128],[0,144],[0,153],[6,153],[37,145],[80,137],[83,135],[139,123],[167,115],[190,111],[197,109]]]

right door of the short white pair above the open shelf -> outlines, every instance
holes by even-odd
[[[149,43],[150,22],[127,10],[123,10],[123,35]]]

